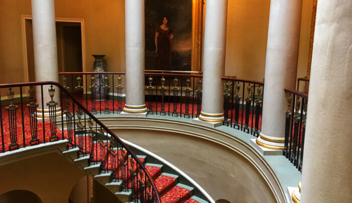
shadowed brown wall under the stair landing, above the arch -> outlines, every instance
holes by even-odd
[[[43,202],[67,202],[72,187],[83,176],[84,171],[61,154],[39,155],[0,166],[0,194],[23,189]]]

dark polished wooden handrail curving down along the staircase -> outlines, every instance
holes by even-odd
[[[70,73],[71,74],[71,73]],[[82,73],[81,73],[82,74]],[[95,73],[97,74],[97,73]],[[0,88],[8,88],[8,87],[22,87],[22,86],[34,86],[34,85],[55,85],[57,86],[60,91],[64,92],[65,95],[67,95],[75,105],[77,105],[85,114],[87,114],[90,118],[92,118],[98,125],[100,125],[107,133],[109,133],[114,139],[116,139],[120,144],[123,146],[123,148],[126,149],[131,154],[131,157],[135,159],[135,161],[138,163],[138,165],[141,167],[143,170],[144,174],[148,177],[150,180],[150,184],[153,188],[153,191],[155,193],[155,197],[158,203],[160,203],[160,196],[158,193],[158,190],[154,184],[153,179],[151,178],[149,172],[145,168],[145,166],[142,164],[142,162],[139,160],[139,158],[133,153],[133,151],[124,143],[120,140],[119,137],[117,137],[109,128],[107,128],[102,122],[100,122],[95,116],[93,116],[88,110],[86,110],[81,104],[78,103],[78,101],[59,83],[53,82],[53,81],[41,81],[41,82],[19,82],[19,83],[12,83],[12,84],[0,84]]]

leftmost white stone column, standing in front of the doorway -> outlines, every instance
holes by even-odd
[[[54,0],[32,0],[33,17],[33,47],[34,47],[34,68],[36,81],[59,81],[57,70],[57,48],[55,28]],[[49,86],[43,86],[43,102],[41,101],[40,86],[36,88],[38,116],[44,109],[48,109],[46,103],[50,100],[48,93]],[[57,101],[57,112],[59,108],[59,89],[55,88],[54,100]],[[46,111],[46,110],[45,110]]]

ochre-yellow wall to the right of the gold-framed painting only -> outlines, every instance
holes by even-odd
[[[229,0],[225,75],[263,80],[269,12],[270,0]],[[311,0],[303,0],[297,77],[307,73],[311,13]]]

